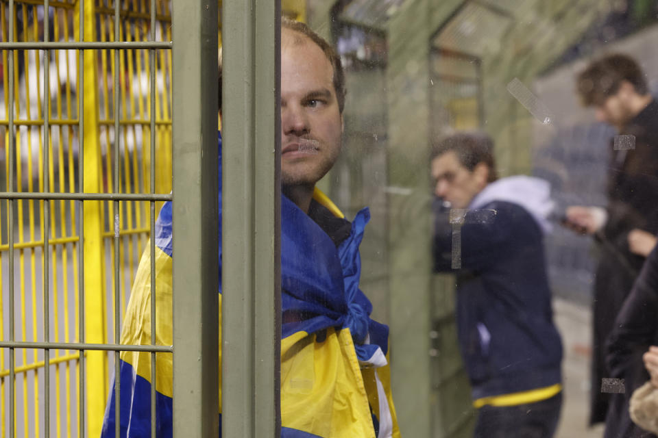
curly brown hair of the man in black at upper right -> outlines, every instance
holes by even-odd
[[[583,70],[576,82],[583,105],[600,105],[619,91],[622,81],[633,85],[637,94],[649,92],[642,68],[632,57],[614,53],[604,56]]]

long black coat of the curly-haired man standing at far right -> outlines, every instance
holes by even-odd
[[[602,244],[594,283],[592,424],[606,419],[611,397],[600,391],[601,379],[610,376],[605,342],[644,262],[629,250],[629,231],[658,233],[658,103],[649,103],[620,134],[635,136],[635,149],[614,151],[610,146],[608,221],[598,239]]]

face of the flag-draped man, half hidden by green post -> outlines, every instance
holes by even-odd
[[[315,185],[341,152],[334,70],[306,36],[283,29],[281,40],[281,182]]]

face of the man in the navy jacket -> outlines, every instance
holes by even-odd
[[[452,208],[466,208],[472,199],[487,185],[488,169],[478,164],[471,172],[461,165],[454,151],[432,159],[434,193],[450,203]]]

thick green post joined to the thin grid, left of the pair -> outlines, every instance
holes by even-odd
[[[219,434],[217,3],[173,2],[175,437]]]

